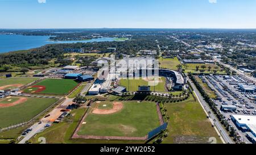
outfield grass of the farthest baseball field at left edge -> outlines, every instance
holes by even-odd
[[[39,78],[5,78],[0,79],[0,86],[13,85],[13,84],[22,84],[26,85],[33,81],[36,81]]]

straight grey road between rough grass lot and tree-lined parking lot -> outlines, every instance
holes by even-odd
[[[196,89],[196,86],[194,85],[194,83],[192,83],[192,81],[189,78],[188,78],[188,81],[191,83],[191,86],[192,86],[192,88],[193,88],[193,90],[194,90],[194,92],[197,96],[197,99],[199,99],[199,102],[203,106],[205,111],[207,111],[207,113],[208,113],[208,111],[210,111],[210,114],[208,113],[209,117],[212,120],[216,120],[216,121],[214,121],[214,125],[218,129],[218,131],[220,132],[220,135],[224,139],[225,143],[233,144],[234,141],[229,137],[229,134],[226,132],[226,129],[221,125],[221,123],[218,122],[217,117],[214,115],[214,113],[210,109],[208,103],[205,102],[205,100],[203,99],[203,97],[201,96],[199,91]]]

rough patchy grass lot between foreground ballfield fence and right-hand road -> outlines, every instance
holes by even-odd
[[[170,116],[170,122],[169,136],[164,138],[163,143],[208,143],[209,137],[216,137],[217,143],[221,143],[200,103],[193,97],[164,106]]]

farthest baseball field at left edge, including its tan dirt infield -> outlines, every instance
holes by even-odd
[[[26,85],[28,83],[34,82],[39,78],[5,78],[0,79],[0,90],[2,89],[14,89]]]

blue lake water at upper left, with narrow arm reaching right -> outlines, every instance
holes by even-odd
[[[49,37],[50,36],[0,35],[0,53],[31,49],[46,44],[90,43],[94,41],[114,41],[115,39],[112,37],[102,37],[81,41],[49,41]]]

